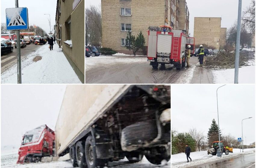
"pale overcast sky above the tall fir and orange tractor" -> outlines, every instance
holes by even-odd
[[[178,132],[194,127],[207,136],[212,119],[217,121],[216,89],[214,85],[172,85],[171,125]],[[219,119],[222,134],[242,137],[255,142],[255,85],[225,85],[218,90]]]

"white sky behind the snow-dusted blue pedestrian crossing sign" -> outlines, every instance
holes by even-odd
[[[49,15],[51,16],[51,30],[55,25],[55,14],[56,14],[56,5],[57,0],[43,0],[43,1],[35,1],[35,0],[19,0],[19,7],[27,7],[28,8],[28,20],[29,26],[40,26],[45,32],[49,33],[50,26]],[[1,23],[6,23],[5,18],[5,9],[15,7],[14,0],[1,0]]]

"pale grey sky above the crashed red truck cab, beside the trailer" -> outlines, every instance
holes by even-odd
[[[66,85],[1,86],[1,151],[19,148],[26,131],[55,129]],[[6,148],[3,148],[7,146]]]

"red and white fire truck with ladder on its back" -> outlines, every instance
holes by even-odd
[[[173,30],[170,26],[150,26],[148,28],[147,55],[150,65],[153,68],[158,68],[159,64],[173,64],[177,70],[185,67],[188,39],[191,38],[187,37],[185,30]]]

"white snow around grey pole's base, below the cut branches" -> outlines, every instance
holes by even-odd
[[[255,83],[255,63],[251,66],[240,67],[238,71],[239,83]],[[234,83],[235,68],[212,71],[214,83]]]

